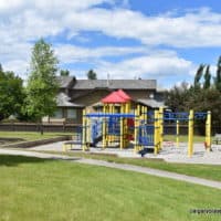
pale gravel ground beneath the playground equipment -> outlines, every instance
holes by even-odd
[[[33,147],[30,149],[62,151],[62,144],[63,141],[59,141],[50,145]],[[157,156],[151,152],[148,152],[144,157],[152,159],[164,159],[169,162],[221,165],[221,145],[212,145],[212,151],[208,152],[206,151],[203,144],[194,144],[192,157],[188,157],[187,148],[187,143],[181,143],[179,147],[176,147],[172,143],[164,143],[164,148]],[[80,145],[74,146],[73,150],[71,151],[76,150],[81,150]],[[96,154],[113,154],[119,157],[141,157],[140,154],[135,152],[133,148],[120,150],[119,148],[102,149],[101,147],[92,147],[90,151]]]

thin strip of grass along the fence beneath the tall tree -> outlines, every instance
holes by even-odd
[[[21,138],[24,140],[38,140],[64,135],[72,135],[71,133],[48,133],[43,135],[36,131],[0,131],[0,138]]]

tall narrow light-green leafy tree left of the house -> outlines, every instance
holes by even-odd
[[[59,83],[57,59],[51,45],[40,39],[32,50],[31,72],[28,80],[27,110],[39,123],[43,116],[53,115],[56,108]],[[43,130],[41,130],[43,133]]]

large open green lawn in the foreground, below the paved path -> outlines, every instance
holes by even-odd
[[[0,220],[220,220],[221,191],[117,169],[0,155]]]

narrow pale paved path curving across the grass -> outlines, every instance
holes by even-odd
[[[165,170],[151,169],[146,167],[133,166],[133,165],[125,165],[125,164],[115,164],[115,162],[107,162],[103,160],[95,160],[95,159],[86,159],[86,158],[77,158],[77,157],[69,157],[64,155],[55,155],[55,154],[42,154],[35,151],[25,151],[25,150],[14,150],[14,149],[1,149],[0,154],[4,155],[21,155],[21,156],[29,156],[29,157],[38,157],[38,158],[49,158],[49,159],[63,159],[63,160],[73,160],[73,162],[81,162],[86,165],[95,165],[115,169],[123,169],[128,171],[141,172],[146,175],[152,175],[157,177],[165,177],[170,178],[179,181],[186,181],[196,185],[202,185],[207,187],[218,188],[221,189],[221,182],[207,180],[202,178],[180,175],[176,172],[169,172]]]

